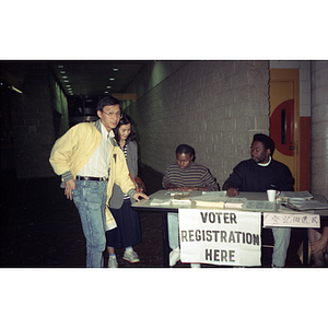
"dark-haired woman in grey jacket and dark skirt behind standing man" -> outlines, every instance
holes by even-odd
[[[138,148],[134,141],[136,131],[130,117],[122,115],[118,126],[114,129],[117,144],[122,150],[130,174],[138,175]],[[140,259],[132,246],[141,242],[139,215],[131,209],[134,200],[125,195],[120,187],[114,185],[113,197],[109,201],[110,212],[115,218],[117,227],[106,231],[107,249],[109,253],[108,268],[117,268],[115,248],[126,248],[124,259],[136,263]]]

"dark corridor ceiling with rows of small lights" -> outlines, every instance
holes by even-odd
[[[124,93],[145,60],[56,60],[50,67],[68,95]]]

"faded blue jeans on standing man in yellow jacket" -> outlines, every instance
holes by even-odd
[[[107,181],[75,180],[75,189],[72,190],[86,239],[86,268],[104,266],[106,189]]]

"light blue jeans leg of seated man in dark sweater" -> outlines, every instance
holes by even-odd
[[[290,227],[272,227],[274,239],[272,267],[283,268],[286,253],[290,246],[291,229]]]

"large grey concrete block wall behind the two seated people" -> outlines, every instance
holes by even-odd
[[[222,187],[249,159],[253,134],[269,133],[268,82],[268,61],[184,62],[125,109],[136,122],[140,162],[164,173],[176,147],[188,143]]]

